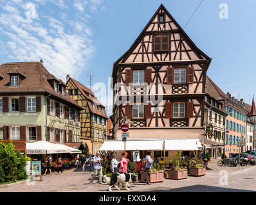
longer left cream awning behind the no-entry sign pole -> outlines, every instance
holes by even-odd
[[[125,150],[163,150],[163,140],[127,140]],[[105,140],[99,151],[123,151],[122,140]]]

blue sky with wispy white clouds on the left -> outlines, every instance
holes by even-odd
[[[212,58],[208,76],[224,92],[251,104],[256,94],[256,1],[204,0],[196,10],[200,2],[0,0],[0,64],[42,59],[57,78],[65,81],[69,74],[88,87],[91,70],[91,89],[97,95],[102,85],[108,86],[114,61],[131,47],[163,3],[182,28],[187,24],[187,35]],[[99,99],[110,115],[112,93],[106,95],[108,102]]]

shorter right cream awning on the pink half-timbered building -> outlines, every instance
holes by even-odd
[[[165,139],[165,150],[167,151],[194,151],[202,148],[198,138],[192,139]]]

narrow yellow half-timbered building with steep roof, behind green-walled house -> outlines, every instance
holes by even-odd
[[[107,138],[107,113],[105,106],[95,94],[77,80],[67,76],[68,94],[84,110],[80,114],[81,142],[86,147],[84,154],[96,154]]]

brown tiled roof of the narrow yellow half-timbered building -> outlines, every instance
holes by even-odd
[[[98,101],[95,94],[89,88],[87,88],[87,86],[82,85],[82,83],[79,83],[77,80],[73,78],[69,78],[69,80],[72,80],[73,83],[75,83],[75,85],[77,86],[78,90],[80,90],[80,92],[84,95],[84,97],[86,97],[89,109],[91,110],[92,113],[95,113],[96,115],[100,115],[101,117],[108,118],[106,110],[104,109],[105,111],[103,112],[103,109],[102,109],[102,108],[105,108],[105,106],[101,104],[100,101]],[[95,104],[95,109],[93,109],[92,103]],[[101,107],[102,111],[98,111],[98,106]]]

